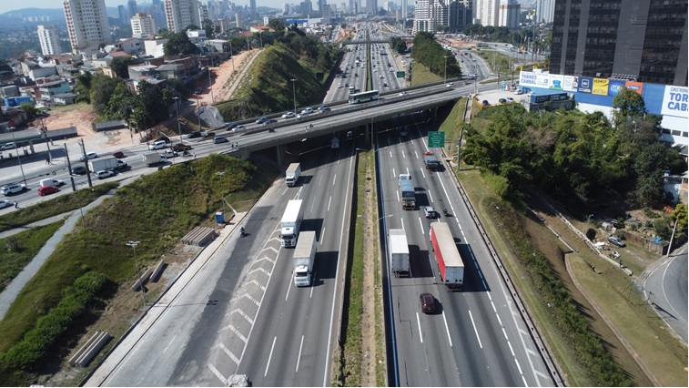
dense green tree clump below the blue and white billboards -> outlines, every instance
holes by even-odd
[[[638,103],[629,93],[636,95],[622,93],[616,106],[630,97]],[[503,198],[519,196],[531,182],[572,205],[620,199],[658,205],[668,200],[664,170],[681,174],[686,163],[657,140],[659,118],[636,107],[619,109],[614,127],[601,113],[487,109],[486,130],[465,128],[462,158],[494,174]]]

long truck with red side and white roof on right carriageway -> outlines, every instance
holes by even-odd
[[[464,262],[447,223],[431,224],[431,249],[435,253],[442,283],[450,291],[461,290],[464,284]]]

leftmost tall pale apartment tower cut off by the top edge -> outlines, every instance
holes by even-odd
[[[62,5],[72,51],[110,40],[106,0],[64,0]]]

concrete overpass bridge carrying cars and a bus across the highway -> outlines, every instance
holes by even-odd
[[[284,126],[272,127],[275,132],[269,132],[267,127],[248,129],[230,138],[230,143],[238,143],[239,148],[230,148],[221,153],[247,157],[251,152],[275,147],[280,163],[282,146],[285,144],[358,128],[363,128],[368,142],[370,131],[376,123],[424,110],[431,110],[435,114],[438,107],[454,104],[462,96],[464,94],[460,90],[442,86],[417,89],[404,97],[397,94],[383,96],[373,102],[346,105],[330,113],[295,119]]]

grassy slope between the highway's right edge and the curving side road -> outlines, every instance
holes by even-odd
[[[472,126],[480,130],[487,128],[491,124],[491,110],[494,109],[486,109],[478,117],[473,117]],[[643,360],[661,385],[686,385],[686,347],[672,338],[664,329],[664,323],[659,322],[654,311],[646,308],[639,295],[633,292],[628,295],[628,276],[594,255],[562,222],[550,217],[551,211],[545,209],[539,200],[525,196],[527,203],[512,209],[511,204],[494,197],[490,177],[482,177],[477,168],[463,166],[460,179],[510,271],[512,281],[521,291],[563,373],[566,373],[568,383],[573,386],[613,382],[613,385],[653,384],[633,361],[633,355],[614,336],[610,326],[594,310],[585,297],[587,295],[612,322],[613,329],[632,345],[634,355]],[[545,229],[525,206],[539,211],[577,253],[572,253],[552,231]],[[534,258],[546,261],[534,265],[532,261],[535,259],[523,254],[525,247],[535,254]],[[574,280],[567,272],[565,261],[570,263]],[[587,263],[601,273],[592,271]],[[575,281],[583,286],[583,292],[576,287]],[[566,306],[553,303],[555,298],[569,301],[576,309],[564,313]],[[577,322],[578,326],[572,322]],[[587,342],[600,343],[583,346]],[[608,357],[601,352],[601,347],[609,354]],[[606,358],[619,364],[623,373],[613,373]],[[614,380],[609,380],[611,378]]]

